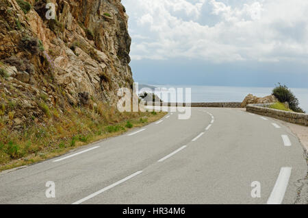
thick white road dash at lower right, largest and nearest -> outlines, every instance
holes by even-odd
[[[281,204],[283,202],[283,197],[285,196],[285,191],[287,190],[287,184],[290,180],[292,167],[282,167],[277,178],[274,189],[270,193],[267,204]]]

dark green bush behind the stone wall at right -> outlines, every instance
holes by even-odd
[[[279,85],[272,90],[272,95],[277,97],[277,99],[282,103],[287,102],[291,110],[295,112],[305,112],[298,106],[298,99],[294,96],[290,88],[287,88],[287,86],[279,83]]]

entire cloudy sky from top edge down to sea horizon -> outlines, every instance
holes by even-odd
[[[307,0],[123,0],[136,82],[308,88]]]

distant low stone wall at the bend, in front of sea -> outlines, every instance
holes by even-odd
[[[146,106],[153,106],[153,104],[155,104],[155,106],[159,106],[159,102],[155,103],[155,102],[146,102]],[[160,106],[185,106],[186,104],[184,103],[179,104],[179,103],[161,103]],[[193,108],[241,108],[241,104],[242,102],[199,102],[199,103],[192,103],[190,106]]]

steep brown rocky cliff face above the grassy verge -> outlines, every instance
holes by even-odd
[[[0,0],[0,116],[21,125],[49,108],[116,103],[133,84],[127,19],[120,0]]]

